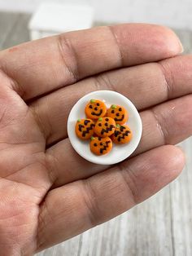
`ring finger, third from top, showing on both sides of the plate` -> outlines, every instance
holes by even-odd
[[[134,155],[164,144],[175,144],[192,135],[192,95],[172,99],[154,108],[142,111],[142,140]],[[85,179],[108,166],[85,161],[72,148],[68,139],[63,139],[46,152],[46,159],[54,187]]]

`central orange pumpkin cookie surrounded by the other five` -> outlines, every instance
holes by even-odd
[[[99,117],[94,127],[94,133],[99,137],[109,137],[116,130],[116,122],[111,117]]]

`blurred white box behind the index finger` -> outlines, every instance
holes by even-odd
[[[94,23],[94,10],[87,5],[44,2],[34,12],[28,24],[32,40],[79,29],[89,29]]]

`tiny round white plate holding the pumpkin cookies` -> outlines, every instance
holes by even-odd
[[[127,144],[117,145],[113,143],[111,152],[103,156],[96,156],[89,149],[89,140],[83,141],[76,136],[75,126],[77,119],[85,118],[85,105],[90,99],[100,99],[105,102],[107,108],[111,104],[123,106],[128,110],[129,120],[127,125],[133,131],[133,139]],[[73,106],[68,116],[68,138],[76,152],[86,160],[100,165],[112,165],[129,157],[137,148],[142,137],[142,120],[133,103],[113,90],[96,90],[79,99]]]

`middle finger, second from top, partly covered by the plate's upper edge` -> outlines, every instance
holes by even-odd
[[[192,92],[192,56],[177,56],[161,63],[122,68],[64,87],[30,105],[47,147],[68,137],[67,121],[72,106],[94,90],[116,90],[141,110]]]

